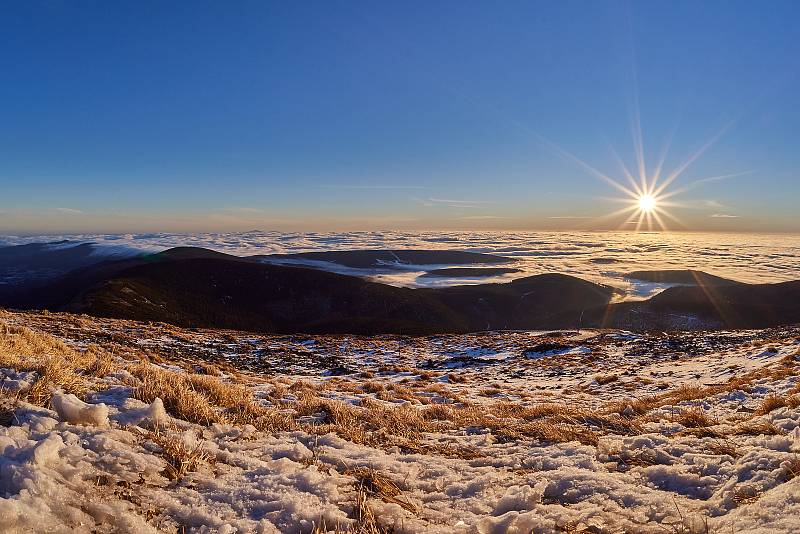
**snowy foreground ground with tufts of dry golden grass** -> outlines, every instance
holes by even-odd
[[[0,525],[796,532],[798,336],[260,336],[4,313]]]

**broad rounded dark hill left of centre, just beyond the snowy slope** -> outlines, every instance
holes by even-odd
[[[464,324],[414,290],[325,271],[193,259],[126,269],[64,309],[260,332],[416,332]]]

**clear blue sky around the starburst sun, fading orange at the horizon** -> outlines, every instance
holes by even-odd
[[[639,110],[690,230],[800,231],[787,2],[26,2],[0,232],[619,227]],[[638,105],[637,105],[638,104]]]

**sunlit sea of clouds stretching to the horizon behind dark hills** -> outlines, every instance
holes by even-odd
[[[31,242],[97,243],[98,253],[124,250],[160,251],[176,246],[206,247],[229,254],[291,253],[350,249],[458,249],[518,260],[523,272],[564,273],[624,289],[644,297],[663,286],[624,277],[635,270],[698,269],[742,282],[800,279],[800,235],[666,232],[236,232],[0,236],[0,244]],[[487,279],[420,277],[423,268],[374,274],[396,285],[451,285]]]

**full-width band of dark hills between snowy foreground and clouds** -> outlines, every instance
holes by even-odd
[[[457,256],[475,263],[470,256]],[[351,263],[365,258],[350,257]],[[614,302],[617,290],[561,274],[409,289],[321,269],[264,263],[258,256],[179,247],[82,266],[46,284],[0,295],[0,305],[278,333],[668,330],[800,322],[800,282],[751,285],[699,271],[668,273],[637,276],[694,284],[669,288],[646,301]]]

